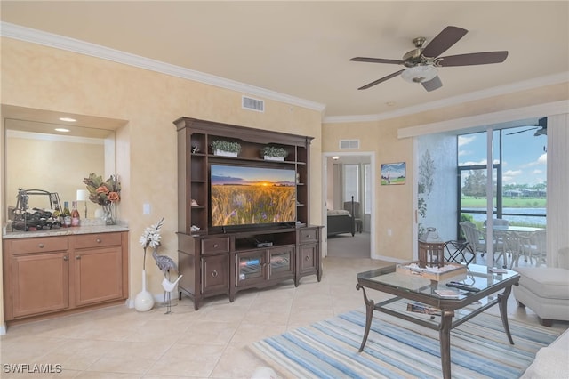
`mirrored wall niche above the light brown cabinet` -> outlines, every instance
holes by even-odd
[[[4,209],[8,212],[17,205],[19,189],[57,193],[61,206],[67,201],[71,208],[77,200],[77,190],[85,189],[83,179],[89,173],[106,179],[106,175],[116,172],[115,130],[124,122],[77,115],[66,116],[76,122],[62,122],[60,112],[53,115],[54,112],[5,106],[2,110]],[[29,196],[28,206],[51,208],[52,201],[50,196]],[[86,208],[87,217],[92,218],[100,206],[87,199],[77,201],[77,208],[82,217]],[[8,214],[4,217],[8,218]]]

